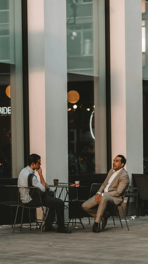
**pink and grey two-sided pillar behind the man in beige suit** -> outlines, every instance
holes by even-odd
[[[110,0],[112,159],[143,173],[141,0]]]

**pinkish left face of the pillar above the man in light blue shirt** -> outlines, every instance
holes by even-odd
[[[41,156],[46,180],[44,1],[28,0],[27,8],[30,154]]]

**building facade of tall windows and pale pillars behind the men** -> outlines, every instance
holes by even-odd
[[[148,1],[0,0],[0,14],[0,178],[31,153],[49,184],[103,179],[117,154],[131,184],[148,171]]]

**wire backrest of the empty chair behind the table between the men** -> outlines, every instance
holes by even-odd
[[[66,185],[62,185],[61,187],[57,187],[55,189],[55,197],[60,198],[63,201],[77,201],[78,194],[77,188],[79,187],[64,187]]]

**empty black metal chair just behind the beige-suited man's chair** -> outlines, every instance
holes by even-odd
[[[125,208],[126,216],[129,210],[130,198],[136,197],[136,216],[139,217],[138,215],[138,188],[129,185],[125,189],[125,197],[127,198],[127,203],[126,203],[126,208]]]

